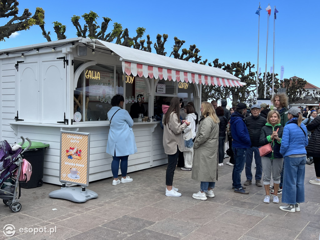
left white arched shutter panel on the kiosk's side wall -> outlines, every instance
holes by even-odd
[[[19,118],[29,123],[39,123],[40,121],[40,84],[37,72],[38,64],[36,62],[19,64],[17,110]]]

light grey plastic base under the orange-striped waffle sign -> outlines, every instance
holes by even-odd
[[[61,187],[61,189],[49,193],[49,197],[62,198],[76,203],[84,203],[89,199],[97,198],[98,194],[89,189],[82,191],[82,188],[79,187]]]

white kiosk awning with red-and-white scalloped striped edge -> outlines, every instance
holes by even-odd
[[[122,70],[127,75],[215,86],[243,86],[239,78],[221,68],[145,52],[118,44],[97,40],[120,56]]]

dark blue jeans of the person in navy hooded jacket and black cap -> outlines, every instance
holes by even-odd
[[[232,147],[234,158],[235,158],[235,165],[233,166],[232,170],[232,182],[233,186],[237,189],[242,188],[241,186],[241,172],[243,171],[246,155],[247,155],[247,148],[234,148]]]

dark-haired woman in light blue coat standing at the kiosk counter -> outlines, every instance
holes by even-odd
[[[106,152],[112,156],[111,171],[114,177],[112,185],[132,182],[132,178],[127,176],[128,157],[137,152],[132,131],[133,120],[128,111],[123,109],[123,103],[124,97],[122,95],[113,96],[111,99],[112,108],[108,111],[110,130]],[[121,181],[118,179],[119,165],[122,175]]]

